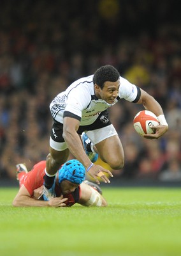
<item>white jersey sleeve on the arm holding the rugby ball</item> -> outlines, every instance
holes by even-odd
[[[120,99],[126,99],[130,102],[134,102],[136,97],[138,98],[139,88],[135,84],[131,84],[129,81],[120,77],[120,88],[119,88],[119,97]],[[139,99],[138,99],[139,100]]]

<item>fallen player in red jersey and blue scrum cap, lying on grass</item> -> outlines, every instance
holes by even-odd
[[[85,206],[107,205],[99,186],[85,180],[85,168],[75,159],[61,166],[54,182],[52,197],[45,201],[42,195],[45,164],[45,161],[41,161],[29,172],[24,164],[17,164],[20,189],[13,200],[14,206],[66,207],[76,203]]]

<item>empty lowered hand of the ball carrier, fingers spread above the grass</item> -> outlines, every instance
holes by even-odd
[[[105,183],[110,183],[110,180],[108,179],[108,177],[106,177],[105,173],[108,173],[108,175],[110,175],[110,177],[113,177],[112,172],[110,172],[109,170],[106,170],[105,168],[103,168],[100,165],[97,164],[92,164],[91,168],[89,169],[89,172],[87,172],[92,178],[95,179],[97,184],[100,184],[98,177],[103,180],[103,182]]]

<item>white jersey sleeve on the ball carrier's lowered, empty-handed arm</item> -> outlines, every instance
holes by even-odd
[[[91,102],[91,93],[85,86],[72,88],[67,95],[66,108],[64,111],[73,113],[82,118],[83,109],[87,108]]]

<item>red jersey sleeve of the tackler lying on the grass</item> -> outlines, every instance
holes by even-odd
[[[28,173],[27,179],[25,179],[24,186],[31,196],[36,188],[40,188],[43,185],[43,176],[45,175],[46,161],[34,165],[31,172]]]

